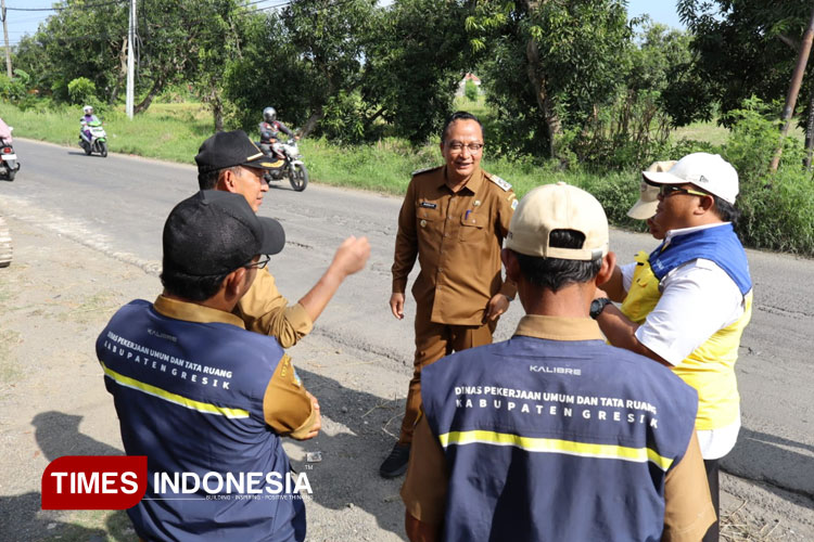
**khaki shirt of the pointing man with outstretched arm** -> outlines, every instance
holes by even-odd
[[[250,332],[271,335],[280,346],[291,348],[314,327],[305,307],[288,306],[289,300],[277,289],[268,269],[257,272],[249,292],[232,311]]]

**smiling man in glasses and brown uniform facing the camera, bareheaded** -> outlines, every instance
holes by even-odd
[[[393,315],[404,318],[407,275],[418,257],[415,372],[398,442],[382,463],[385,478],[404,474],[421,405],[421,369],[453,351],[492,343],[517,286],[501,276],[500,249],[517,199],[511,184],[481,169],[483,129],[454,114],[442,132],[446,165],[416,171],[398,216]]]

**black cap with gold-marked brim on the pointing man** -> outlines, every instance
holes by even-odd
[[[217,132],[201,144],[195,155],[199,173],[234,166],[272,169],[274,165],[243,130]]]

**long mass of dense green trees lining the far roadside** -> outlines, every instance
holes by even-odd
[[[494,152],[627,167],[652,154],[651,128],[661,139],[665,120],[653,107],[687,51],[686,39],[652,25],[637,41],[623,0],[254,3],[141,0],[136,113],[183,85],[216,129],[252,129],[274,105],[304,134],[418,144],[437,137],[463,74],[475,72],[495,112]],[[67,9],[15,52],[15,66],[34,74],[28,88],[78,105],[68,86],[87,80],[81,100],[119,103],[127,2],[58,5]],[[636,153],[611,149],[631,142]]]

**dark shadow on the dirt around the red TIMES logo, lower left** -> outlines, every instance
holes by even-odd
[[[49,411],[37,414],[31,421],[40,451],[50,462],[63,455],[122,455],[124,452],[79,433],[81,416]],[[99,521],[94,528],[65,519],[72,514],[63,511],[40,509],[41,493],[31,491],[22,495],[0,495],[0,538],[20,542],[41,540],[81,540],[104,542],[107,535],[118,542],[133,541],[136,537],[124,511],[117,511]],[[92,519],[90,519],[92,521]],[[84,522],[89,522],[85,521]]]

